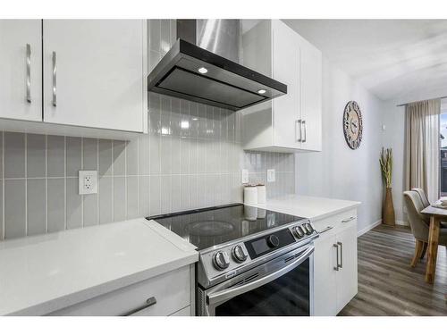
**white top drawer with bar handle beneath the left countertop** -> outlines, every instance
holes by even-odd
[[[153,305],[144,308],[149,298]],[[51,315],[169,315],[187,306],[190,306],[190,267],[184,266]]]

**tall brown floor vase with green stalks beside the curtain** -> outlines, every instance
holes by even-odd
[[[384,224],[393,226],[396,224],[396,217],[394,214],[394,205],[392,205],[392,149],[386,150],[382,147],[380,155],[380,169],[382,170],[382,178],[386,187],[384,208],[382,212],[382,222]]]

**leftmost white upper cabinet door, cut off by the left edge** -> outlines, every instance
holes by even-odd
[[[0,117],[42,121],[41,24],[0,20]]]

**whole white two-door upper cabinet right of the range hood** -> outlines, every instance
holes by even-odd
[[[245,66],[287,85],[287,95],[241,111],[246,150],[321,150],[322,57],[283,21],[243,34]]]

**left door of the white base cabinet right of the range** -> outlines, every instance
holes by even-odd
[[[314,242],[314,314],[337,314],[337,272],[335,236],[324,233]]]

